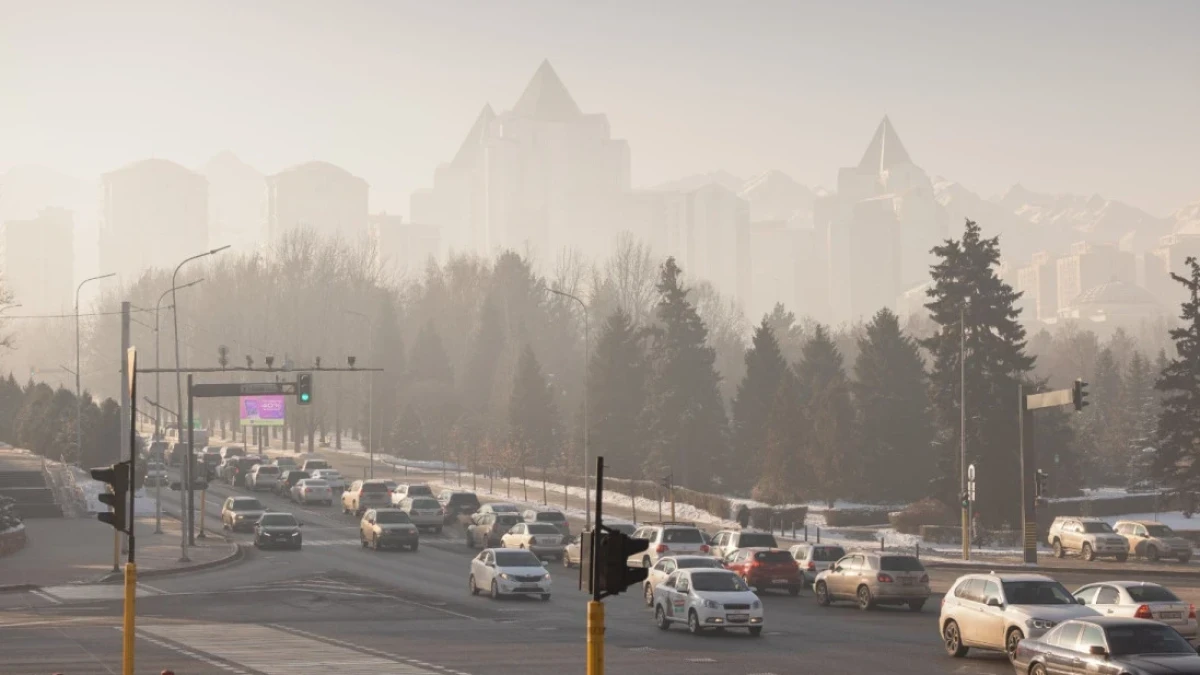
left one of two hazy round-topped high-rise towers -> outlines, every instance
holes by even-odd
[[[209,183],[168,160],[142,160],[101,179],[100,269],[122,281],[209,247]]]

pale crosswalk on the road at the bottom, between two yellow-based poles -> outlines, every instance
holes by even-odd
[[[370,650],[349,643],[332,644],[300,631],[250,623],[230,629],[223,623],[163,625],[138,628],[138,635],[234,674],[263,675],[336,671],[338,675],[445,675],[439,665]],[[343,646],[344,645],[344,646]]]

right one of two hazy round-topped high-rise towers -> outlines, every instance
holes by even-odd
[[[294,229],[360,241],[367,234],[367,181],[329,162],[307,162],[266,178],[266,237]]]

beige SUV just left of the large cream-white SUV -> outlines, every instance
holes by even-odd
[[[822,607],[853,601],[862,610],[906,604],[920,611],[930,595],[929,574],[911,555],[852,552],[817,574],[812,592]]]

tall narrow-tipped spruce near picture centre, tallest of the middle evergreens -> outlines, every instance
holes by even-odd
[[[713,366],[716,353],[706,341],[704,322],[688,301],[682,274],[674,258],[667,258],[658,283],[643,470],[656,477],[666,468],[676,484],[706,490],[722,468],[728,426]]]

